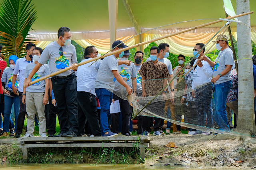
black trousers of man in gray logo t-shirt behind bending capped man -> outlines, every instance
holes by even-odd
[[[132,106],[129,105],[127,100],[124,100],[117,95],[113,95],[114,101],[119,100],[120,109],[122,112],[122,134],[129,133],[130,129],[130,120],[132,115]],[[111,131],[114,133],[118,133],[119,127],[119,114],[120,113],[113,113],[110,114],[111,116]]]

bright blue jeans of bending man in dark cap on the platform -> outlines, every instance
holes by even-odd
[[[113,99],[113,93],[107,89],[96,89],[96,95],[100,101],[100,130],[102,136],[110,131],[108,127],[108,117],[110,116],[110,105]]]

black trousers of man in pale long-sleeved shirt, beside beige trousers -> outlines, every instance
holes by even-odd
[[[22,128],[24,127],[25,115],[26,115],[26,105],[22,103],[22,92],[19,91],[20,98],[20,113],[17,121],[16,134],[22,133]],[[26,130],[27,131],[27,130]]]

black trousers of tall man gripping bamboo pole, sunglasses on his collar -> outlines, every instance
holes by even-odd
[[[78,130],[76,75],[72,73],[68,77],[52,77],[52,89],[58,105],[58,119],[63,133]]]

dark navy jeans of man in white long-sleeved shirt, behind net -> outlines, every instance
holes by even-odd
[[[199,89],[196,89],[196,121],[195,125],[204,127],[205,113],[207,119],[206,127],[213,127],[213,112],[212,112],[212,91],[213,84],[205,85]],[[204,113],[205,112],[205,113]]]

